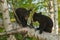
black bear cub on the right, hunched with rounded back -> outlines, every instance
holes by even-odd
[[[35,13],[33,15],[33,21],[38,21],[40,23],[39,28],[37,30],[40,30],[40,34],[45,31],[45,32],[52,32],[52,27],[53,27],[53,21],[51,18],[48,16],[42,15],[42,13]]]

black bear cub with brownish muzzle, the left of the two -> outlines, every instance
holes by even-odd
[[[15,13],[16,13],[16,15],[18,17],[18,19],[17,19],[16,15],[14,15],[17,23],[19,23],[19,21],[20,21],[20,23],[22,24],[22,26],[26,27],[27,26],[27,19],[29,17],[30,11],[27,10],[27,9],[25,9],[25,8],[17,8],[15,10]]]

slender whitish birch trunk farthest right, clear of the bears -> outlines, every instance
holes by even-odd
[[[57,0],[53,0],[54,3],[54,29],[55,33],[58,34],[58,6]]]

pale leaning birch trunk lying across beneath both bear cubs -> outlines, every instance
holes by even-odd
[[[21,33],[21,34],[25,33],[25,35],[27,34],[29,37],[35,37],[39,40],[59,40],[60,39],[60,35],[47,33],[47,32],[43,32],[42,34],[39,34],[39,31],[36,31],[33,28],[20,28],[20,29],[18,28],[17,31],[12,30],[12,31],[9,31],[7,34],[0,33],[0,35],[11,35],[15,33]]]

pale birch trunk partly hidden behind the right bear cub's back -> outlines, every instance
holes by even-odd
[[[53,20],[53,24],[54,24],[53,0],[49,0],[48,7],[49,7],[49,16]],[[53,25],[52,33],[54,33],[54,25]]]

